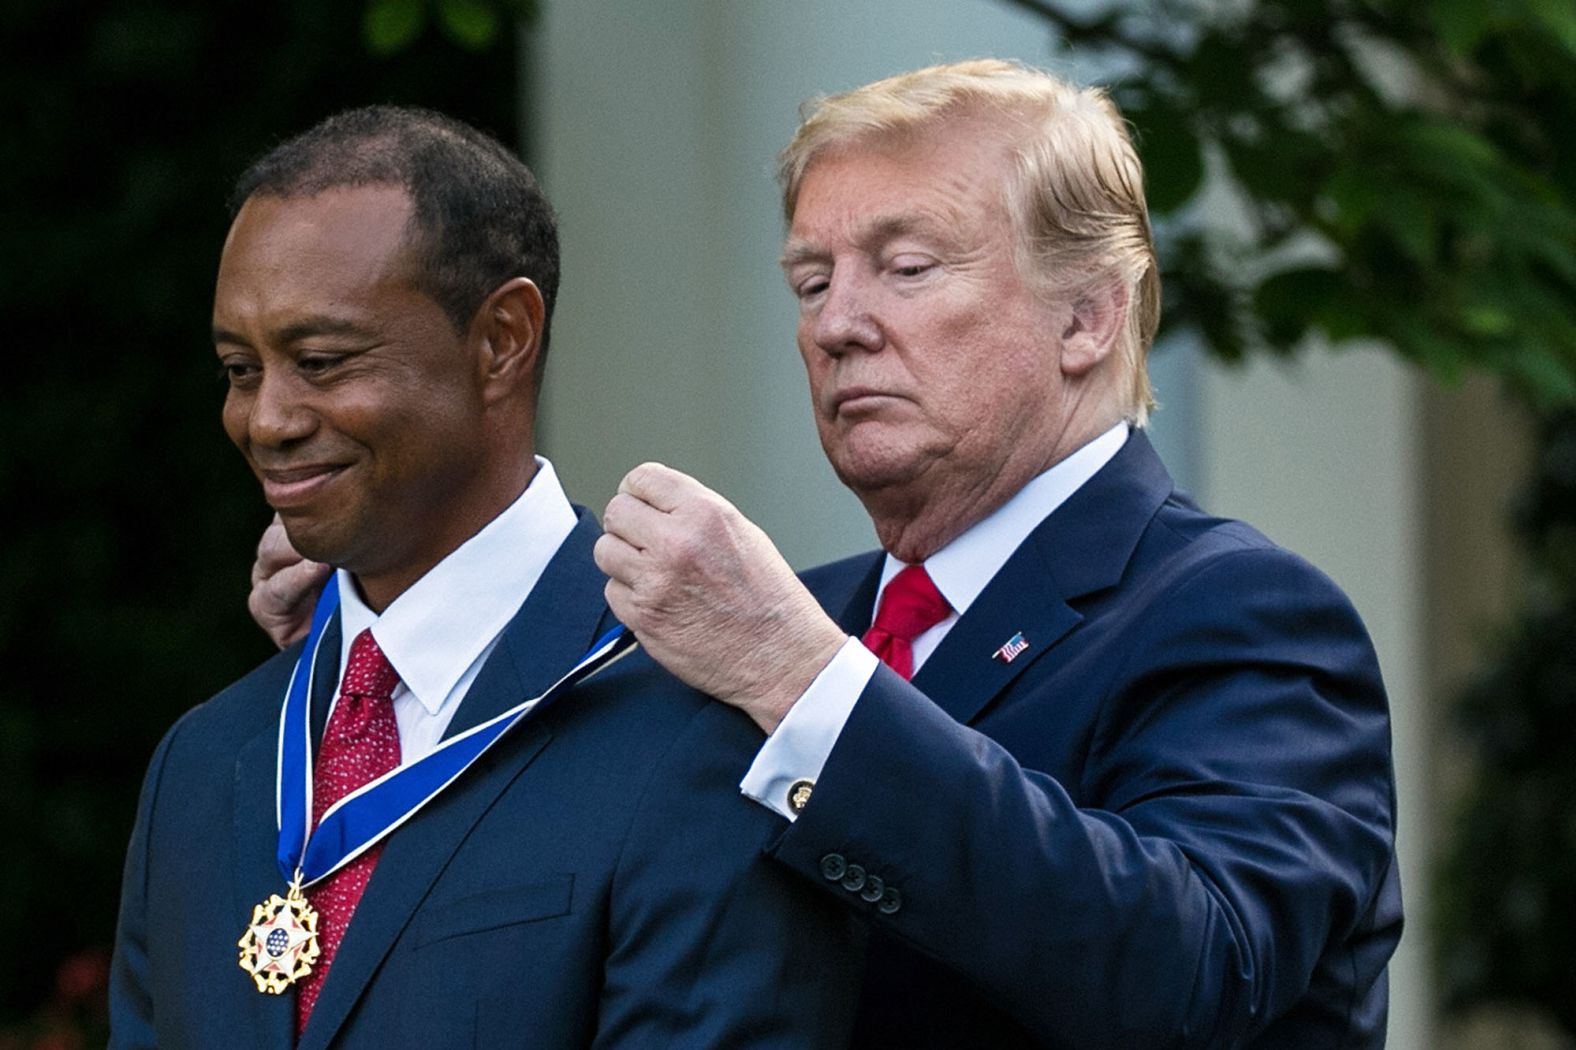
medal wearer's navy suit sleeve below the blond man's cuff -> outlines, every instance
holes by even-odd
[[[764,855],[779,817],[720,790],[758,746],[706,703],[646,787],[613,880],[599,1050],[846,1047],[865,933]]]

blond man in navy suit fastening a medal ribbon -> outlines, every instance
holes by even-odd
[[[646,464],[596,555],[649,653],[769,735],[768,853],[873,925],[856,1045],[1382,1045],[1379,668],[1333,583],[1143,435],[1158,279],[1116,109],[935,66],[813,104],[782,177],[816,427],[883,550],[796,579]]]

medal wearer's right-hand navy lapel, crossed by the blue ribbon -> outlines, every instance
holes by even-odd
[[[585,654],[604,621],[610,623],[602,602],[605,580],[591,561],[596,538],[594,520],[582,512],[580,523],[504,627],[446,736],[547,689]],[[389,836],[323,982],[299,1050],[317,1050],[334,1037],[454,851],[550,736],[537,719],[528,717],[448,791]]]

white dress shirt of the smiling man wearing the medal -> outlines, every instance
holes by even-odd
[[[339,569],[339,673],[344,678],[350,643],[372,627],[399,673],[394,720],[400,765],[427,755],[443,739],[504,626],[574,528],[575,511],[558,475],[537,456],[525,492],[389,602],[381,616]]]

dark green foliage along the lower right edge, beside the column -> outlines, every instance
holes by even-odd
[[[1444,993],[1576,1034],[1576,413],[1544,421],[1519,527],[1538,593],[1461,702],[1477,776],[1440,866]]]

